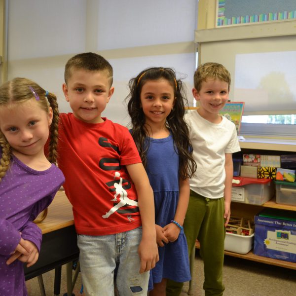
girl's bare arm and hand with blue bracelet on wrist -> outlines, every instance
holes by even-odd
[[[188,208],[189,194],[190,194],[189,179],[185,179],[185,180],[180,179],[179,202],[178,202],[174,220],[178,222],[181,226],[183,226],[186,211]],[[166,237],[170,242],[174,242],[178,238],[179,233],[181,231],[181,228],[175,223],[170,223],[164,226],[164,229],[165,229]]]

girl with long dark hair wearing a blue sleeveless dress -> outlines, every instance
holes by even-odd
[[[165,296],[167,279],[190,280],[183,222],[196,169],[184,121],[185,92],[170,68],[149,68],[129,81],[131,134],[154,192],[159,261],[150,271],[149,296]]]

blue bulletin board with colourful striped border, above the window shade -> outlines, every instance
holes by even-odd
[[[216,27],[293,19],[295,0],[217,0]]]

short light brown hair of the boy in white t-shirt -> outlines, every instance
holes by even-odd
[[[228,83],[228,90],[230,87],[230,73],[221,64],[218,63],[205,63],[199,65],[194,73],[194,88],[197,91],[201,89],[201,83],[207,79],[220,79]]]

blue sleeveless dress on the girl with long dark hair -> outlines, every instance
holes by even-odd
[[[164,139],[148,138],[147,174],[154,193],[155,223],[164,227],[174,220],[179,201],[179,156],[172,135]],[[158,248],[159,261],[150,270],[149,288],[163,278],[175,282],[191,279],[187,241],[181,230],[173,243]]]

